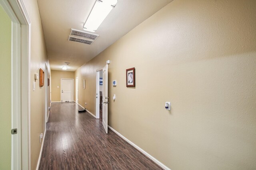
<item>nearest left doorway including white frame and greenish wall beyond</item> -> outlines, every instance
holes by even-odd
[[[4,107],[1,109],[11,109],[11,111],[3,111],[4,118],[0,117],[1,127],[1,139],[8,140],[11,142],[2,142],[0,147],[0,169],[30,169],[30,40],[31,40],[31,22],[28,18],[28,14],[24,7],[22,0],[11,1],[1,0],[1,42],[0,46],[3,47],[2,52],[9,51],[9,47],[5,45],[11,45],[11,55],[1,54],[2,64],[0,68],[3,69],[2,74],[3,84],[0,83],[1,89],[3,90],[2,97],[7,94],[8,96],[3,97]],[[11,20],[11,26],[8,31],[2,31],[6,29],[6,24],[3,23],[8,17]],[[5,19],[2,20],[2,17]],[[8,20],[9,20],[8,19]],[[10,21],[9,20],[9,21]],[[6,21],[6,20],[5,20]],[[8,24],[8,23],[7,23]],[[10,35],[11,41],[6,35]],[[2,48],[1,48],[2,49]],[[8,56],[8,58],[6,58]],[[7,61],[5,61],[7,59]],[[11,62],[11,64],[10,64]],[[7,67],[7,68],[6,68]],[[11,75],[10,74],[11,71]],[[7,80],[6,80],[7,79]],[[11,82],[11,84],[9,84]],[[3,88],[2,88],[3,85]],[[11,91],[10,91],[11,90]],[[22,92],[22,93],[21,93]],[[11,100],[10,100],[11,99]],[[22,101],[22,102],[21,102]],[[2,112],[2,110],[1,110]],[[1,115],[2,116],[2,115]],[[10,119],[11,116],[11,119]],[[8,121],[5,121],[8,119]],[[11,122],[10,122],[11,121]],[[1,125],[6,125],[6,131]],[[10,129],[17,129],[12,131],[10,135]],[[16,133],[17,132],[17,133]],[[4,134],[8,137],[6,138]],[[22,138],[21,138],[22,137]],[[11,148],[10,148],[11,147]],[[3,150],[2,150],[3,149]],[[7,149],[7,150],[6,150]],[[11,150],[11,151],[10,151]],[[22,152],[21,152],[22,150]],[[11,156],[9,156],[11,154]],[[3,157],[2,157],[3,156]],[[10,161],[11,160],[11,161]],[[2,164],[3,161],[3,164]]]

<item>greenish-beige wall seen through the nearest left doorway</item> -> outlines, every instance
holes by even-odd
[[[0,5],[0,169],[11,169],[12,21]]]

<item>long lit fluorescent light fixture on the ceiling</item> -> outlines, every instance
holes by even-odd
[[[87,20],[84,23],[84,30],[95,32],[110,11],[115,8],[117,0],[96,0]]]

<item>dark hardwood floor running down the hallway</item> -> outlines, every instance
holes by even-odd
[[[40,170],[158,170],[158,165],[76,103],[54,103]]]

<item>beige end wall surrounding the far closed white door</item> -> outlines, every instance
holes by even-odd
[[[52,87],[52,102],[60,102],[60,84],[61,84],[61,78],[70,78],[74,79],[74,84],[76,82],[76,78],[74,78],[75,72],[74,71],[57,71],[57,70],[52,70],[51,71],[51,87]],[[59,86],[59,88],[57,87]],[[75,92],[75,86],[74,86],[74,92]],[[74,100],[75,94],[74,94]]]

